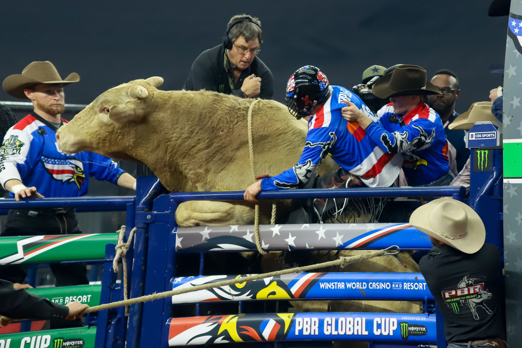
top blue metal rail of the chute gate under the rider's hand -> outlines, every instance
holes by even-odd
[[[243,200],[244,191],[176,192],[170,196],[176,202],[189,200]],[[303,188],[295,190],[261,191],[257,199],[290,198],[352,198],[352,197],[453,197],[464,201],[463,186],[432,187],[357,187],[357,188]]]

